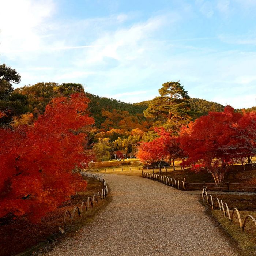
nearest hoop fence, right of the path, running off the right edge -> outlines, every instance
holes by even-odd
[[[234,208],[231,213],[231,216],[230,216],[230,211],[229,211],[229,207],[227,206],[227,204],[225,203],[225,207],[224,207],[222,200],[219,200],[218,197],[215,197],[215,199],[213,200],[212,195],[208,195],[206,189],[207,189],[207,187],[204,188],[202,191],[202,200],[203,200],[203,203],[207,202],[207,204],[211,206],[212,211],[216,209],[215,202],[217,202],[218,203],[217,207],[219,208],[220,211],[223,212],[224,217],[227,216],[229,218],[230,224],[233,224],[233,219],[234,219],[234,216],[236,215],[238,222],[239,222],[239,227],[240,227],[242,233],[244,233],[245,225],[248,222],[248,219],[251,219],[256,227],[256,219],[252,215],[247,215],[244,219],[244,222],[242,222],[240,212],[238,211],[237,208]]]

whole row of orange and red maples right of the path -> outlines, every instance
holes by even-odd
[[[148,165],[163,159],[182,161],[199,172],[207,169],[215,183],[223,181],[229,165],[250,162],[256,153],[256,112],[236,112],[226,106],[223,112],[209,112],[184,126],[178,136],[164,128],[156,128],[158,138],[141,143],[138,158]],[[160,165],[159,170],[161,171]],[[175,170],[175,169],[174,169]]]

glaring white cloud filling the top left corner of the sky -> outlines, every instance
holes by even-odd
[[[47,35],[46,19],[54,14],[52,0],[8,0],[1,2],[0,52],[15,59],[29,50],[45,47],[42,35]],[[29,57],[29,56],[27,56]]]

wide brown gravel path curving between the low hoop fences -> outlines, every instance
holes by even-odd
[[[112,202],[44,255],[237,255],[197,196],[146,178],[104,177]]]

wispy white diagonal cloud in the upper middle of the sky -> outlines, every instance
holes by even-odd
[[[127,29],[118,29],[105,33],[93,42],[98,46],[87,50],[80,60],[76,60],[78,66],[103,63],[108,57],[118,61],[132,61],[142,54],[147,45],[147,38],[165,24],[166,17],[155,17],[147,22],[135,24]]]

